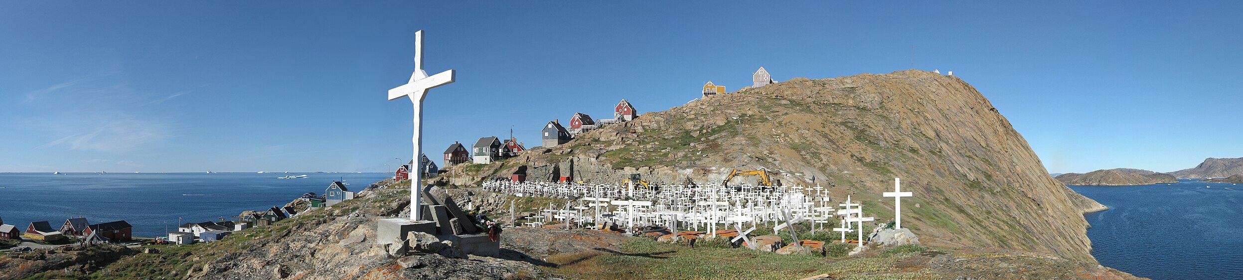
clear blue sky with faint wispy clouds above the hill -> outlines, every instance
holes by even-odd
[[[446,5],[441,2],[455,2]],[[776,80],[938,68],[1049,172],[1243,157],[1239,1],[0,1],[0,172],[377,172]],[[394,159],[401,158],[401,161]],[[389,166],[385,166],[389,164]]]

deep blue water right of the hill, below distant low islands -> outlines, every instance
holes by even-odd
[[[1243,279],[1243,184],[1070,188],[1110,208],[1085,215],[1101,265],[1156,280]]]

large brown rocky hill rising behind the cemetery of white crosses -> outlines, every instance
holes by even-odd
[[[732,119],[737,117],[738,119]],[[740,131],[741,129],[741,136]],[[528,179],[718,183],[742,168],[786,184],[854,195],[892,217],[895,177],[915,197],[904,226],[925,244],[1006,248],[1094,263],[1084,212],[1100,204],[1048,175],[1027,141],[976,88],[926,71],[793,78],[709,96],[552,148],[492,164],[459,164],[438,184],[475,185],[526,166]],[[814,178],[814,183],[813,183]]]

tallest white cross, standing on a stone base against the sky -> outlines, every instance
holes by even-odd
[[[410,102],[414,103],[414,164],[423,166],[423,98],[428,97],[428,90],[433,87],[439,87],[454,82],[454,71],[444,71],[433,76],[428,76],[428,72],[423,71],[423,30],[414,32],[414,73],[410,75],[410,82],[394,87],[389,90],[389,100],[397,100],[401,97],[410,97]],[[414,168],[414,167],[411,167]],[[414,173],[410,180],[410,220],[419,220],[423,218],[423,202],[420,200],[420,194],[423,193],[423,172]]]

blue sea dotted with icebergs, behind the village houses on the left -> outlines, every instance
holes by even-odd
[[[306,174],[306,178],[277,179]],[[126,220],[135,236],[157,236],[165,225],[231,219],[244,210],[285,205],[303,193],[323,193],[333,180],[362,190],[392,173],[0,173],[0,219],[25,229],[47,220]]]

